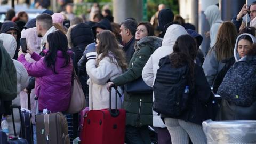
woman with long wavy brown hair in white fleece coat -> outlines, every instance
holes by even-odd
[[[125,54],[119,47],[115,36],[109,30],[103,30],[97,35],[96,52],[86,54],[88,62],[86,71],[89,75],[89,109],[99,110],[109,108],[109,92],[107,82],[121,75],[127,68]],[[118,87],[118,91],[122,93]],[[117,107],[121,108],[121,98],[118,97]],[[115,90],[111,92],[111,108],[115,108]]]

